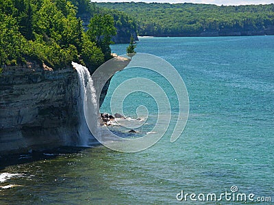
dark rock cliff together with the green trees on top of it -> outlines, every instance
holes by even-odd
[[[85,11],[86,28],[78,16]],[[113,14],[88,0],[0,0],[0,154],[83,145],[81,83],[71,62],[92,73],[112,58],[114,25]]]

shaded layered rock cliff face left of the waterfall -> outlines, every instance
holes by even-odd
[[[4,68],[0,74],[0,153],[77,141],[77,72]]]

